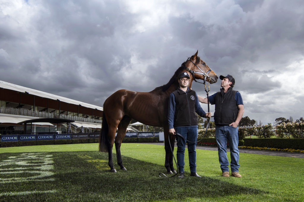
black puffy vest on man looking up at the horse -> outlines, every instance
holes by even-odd
[[[237,119],[237,101],[235,100],[235,93],[230,87],[224,94],[223,88],[215,95],[215,112],[214,123],[221,125],[229,125]]]

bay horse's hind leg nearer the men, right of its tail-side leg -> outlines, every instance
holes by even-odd
[[[117,136],[115,138],[115,149],[117,156],[117,164],[120,166],[120,169],[126,171],[127,169],[123,166],[123,161],[121,159],[120,146],[123,141],[123,137],[126,135],[127,127],[130,124],[132,118],[125,115],[123,119],[118,124]]]

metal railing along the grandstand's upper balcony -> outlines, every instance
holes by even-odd
[[[46,111],[33,111],[29,109],[22,109],[22,108],[9,108],[9,107],[0,107],[0,113],[3,114],[16,114],[16,115],[22,115],[22,116],[32,116],[32,117],[39,117],[39,118],[64,118],[69,119],[73,121],[82,121],[82,122],[89,122],[89,123],[98,123],[101,124],[102,120],[99,119],[93,119],[93,118],[83,118],[78,116],[68,116],[65,114],[54,114],[54,113],[48,113]]]

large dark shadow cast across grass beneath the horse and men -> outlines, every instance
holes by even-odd
[[[4,197],[4,200],[152,201],[267,194],[210,177],[159,177],[164,166],[123,157],[128,171],[109,172],[108,154],[97,151],[48,152],[54,156],[55,181],[6,184],[6,191],[57,190],[55,193]],[[16,153],[15,153],[16,154]],[[116,164],[116,162],[114,162]],[[116,164],[116,168],[118,168]],[[22,189],[20,189],[22,187]],[[4,188],[4,187],[2,187]]]

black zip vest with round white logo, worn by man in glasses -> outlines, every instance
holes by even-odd
[[[195,112],[195,91],[187,93],[178,88],[172,92],[175,97],[174,127],[197,125]]]

